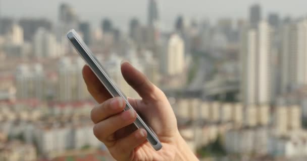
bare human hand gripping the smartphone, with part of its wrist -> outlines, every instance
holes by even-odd
[[[112,98],[85,65],[82,70],[84,81],[89,93],[99,103],[91,111],[95,123],[93,132],[105,143],[111,155],[117,160],[197,160],[179,134],[175,114],[165,94],[128,62],[122,63],[121,71],[127,83],[142,98],[129,98],[129,103],[156,132],[163,147],[159,151],[151,147],[146,140],[146,131],[133,125],[136,112],[123,112],[125,101]]]

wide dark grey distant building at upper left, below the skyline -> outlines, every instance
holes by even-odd
[[[44,28],[47,31],[52,31],[52,22],[47,19],[31,19],[22,18],[18,23],[24,30],[24,40],[32,41],[34,34],[37,32],[38,28]]]

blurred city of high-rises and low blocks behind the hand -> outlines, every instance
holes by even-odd
[[[47,3],[47,2],[46,2]],[[84,61],[65,38],[74,28],[118,86],[128,60],[161,88],[180,133],[200,160],[307,158],[307,18],[174,19],[161,28],[159,1],[128,32],[112,17],[98,28],[59,4],[57,22],[0,17],[0,160],[113,160],[92,133],[94,100]]]

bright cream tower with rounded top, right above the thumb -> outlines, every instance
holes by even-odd
[[[178,34],[170,35],[166,51],[160,56],[161,70],[167,75],[177,75],[184,70],[184,42]]]

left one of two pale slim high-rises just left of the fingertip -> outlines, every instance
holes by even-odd
[[[72,101],[72,63],[68,57],[60,59],[58,77],[57,101]]]

